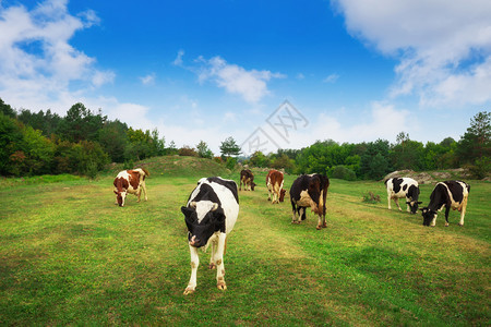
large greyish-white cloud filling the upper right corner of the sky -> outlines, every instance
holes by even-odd
[[[345,15],[351,35],[399,58],[392,96],[416,94],[429,106],[491,100],[490,1],[332,3]]]

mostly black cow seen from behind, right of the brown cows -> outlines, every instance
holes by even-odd
[[[297,178],[290,189],[290,201],[294,210],[291,223],[300,223],[300,209],[303,209],[301,220],[306,220],[306,208],[310,207],[319,215],[318,229],[327,227],[325,221],[325,199],[330,179],[323,174],[302,174]],[[297,214],[299,218],[297,219]]]

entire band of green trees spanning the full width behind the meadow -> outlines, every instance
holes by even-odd
[[[255,167],[285,169],[289,173],[326,173],[346,180],[381,179],[394,170],[442,170],[467,167],[483,178],[491,167],[491,113],[476,114],[457,142],[422,144],[405,132],[395,144],[386,140],[358,144],[316,141],[302,149],[278,149],[275,154],[254,153],[240,158],[233,137],[214,157],[204,141],[195,147],[166,146],[157,130],[134,130],[119,120],[108,120],[101,110],[93,112],[83,104],[73,105],[64,117],[14,110],[0,98],[0,174],[35,175],[79,173],[95,177],[110,162],[132,168],[134,161],[155,156],[181,155],[215,159],[233,168],[237,160]]]

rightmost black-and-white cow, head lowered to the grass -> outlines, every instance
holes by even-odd
[[[450,209],[460,211],[459,226],[464,226],[466,215],[467,198],[469,196],[469,184],[460,181],[446,181],[438,183],[430,195],[430,204],[420,210],[423,216],[424,226],[435,226],[438,211],[445,209],[445,226],[448,226]]]

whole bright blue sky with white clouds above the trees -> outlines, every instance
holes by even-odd
[[[0,0],[0,97],[215,154],[458,141],[490,110],[491,2]]]

